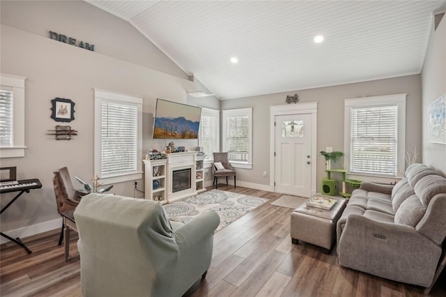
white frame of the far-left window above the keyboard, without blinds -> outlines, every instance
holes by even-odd
[[[0,158],[25,156],[25,80],[26,77],[0,73],[0,88],[13,93],[12,145],[0,146]]]

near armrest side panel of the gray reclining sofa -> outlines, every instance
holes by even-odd
[[[341,266],[429,287],[441,248],[414,227],[351,213],[341,231],[338,255]]]

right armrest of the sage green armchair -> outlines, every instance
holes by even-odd
[[[205,211],[174,231],[178,245],[195,244],[213,234],[220,224],[220,217],[213,211]]]

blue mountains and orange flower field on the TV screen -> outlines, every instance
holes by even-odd
[[[153,138],[197,139],[200,122],[185,117],[156,118]]]

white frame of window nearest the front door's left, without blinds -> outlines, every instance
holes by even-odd
[[[252,169],[252,108],[227,109],[222,111],[223,151],[228,151],[229,118],[247,116],[248,118],[248,160],[247,162],[231,161],[232,167]]]

